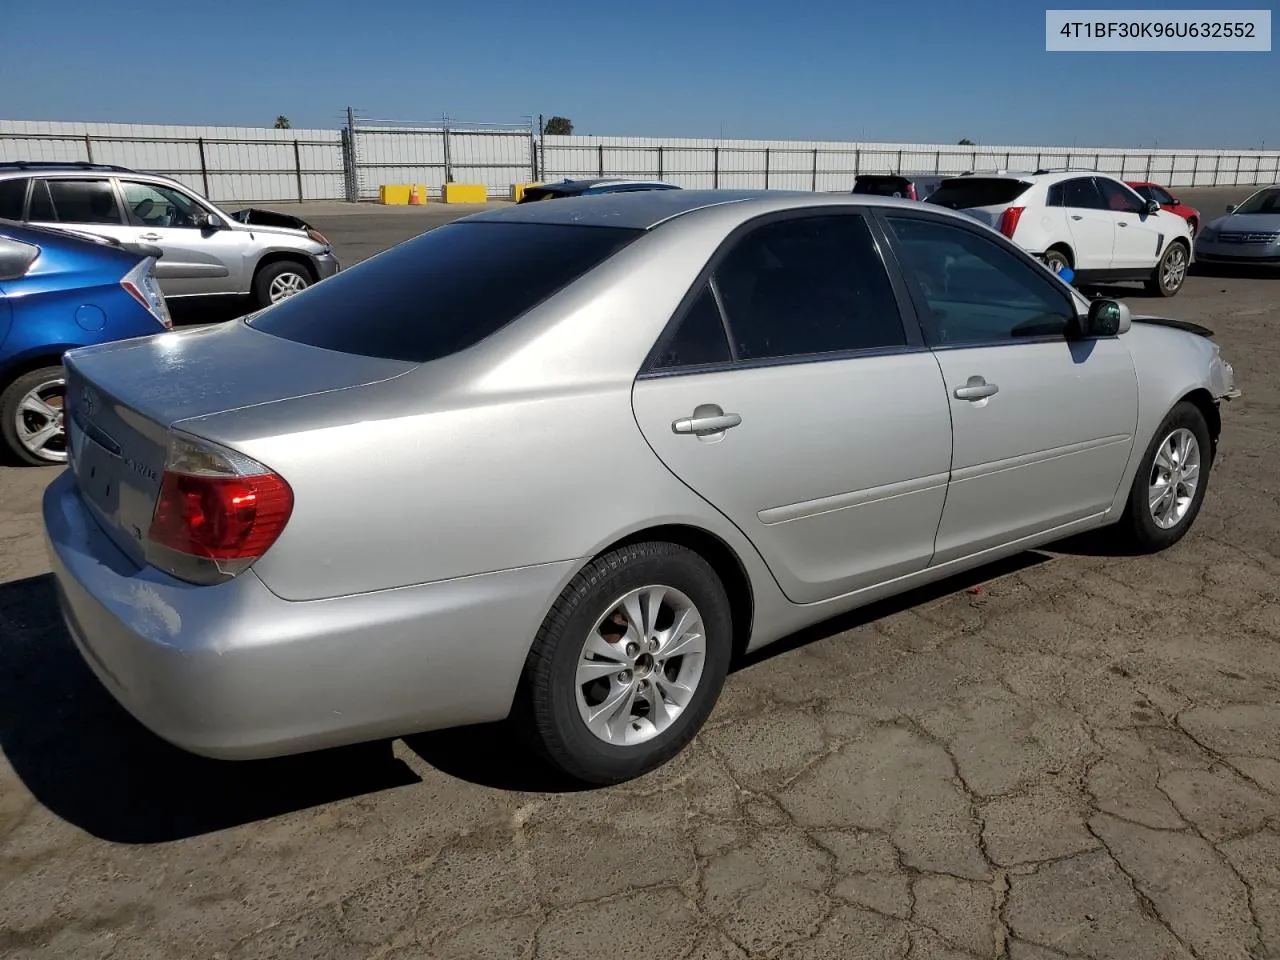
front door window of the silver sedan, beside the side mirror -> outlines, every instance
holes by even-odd
[[[1033,264],[961,227],[890,218],[902,265],[929,305],[931,344],[1060,335],[1075,308]]]

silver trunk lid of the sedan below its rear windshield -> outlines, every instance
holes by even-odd
[[[416,364],[280,339],[229,321],[67,353],[70,468],[102,530],[131,561],[164,474],[169,429],[195,417],[364,387]]]

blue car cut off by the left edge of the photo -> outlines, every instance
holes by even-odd
[[[63,353],[173,326],[159,251],[0,220],[0,453],[67,462]]]

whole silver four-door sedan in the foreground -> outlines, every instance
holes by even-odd
[[[45,525],[84,659],[191,751],[511,718],[617,782],[800,627],[1085,530],[1178,541],[1236,396],[1210,337],[910,201],[520,205],[69,353]]]

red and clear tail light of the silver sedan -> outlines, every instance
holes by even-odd
[[[195,584],[230,580],[270,549],[292,512],[293,490],[269,467],[173,434],[147,531],[147,562]]]

